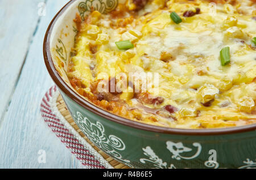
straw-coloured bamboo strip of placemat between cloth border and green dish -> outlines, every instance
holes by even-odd
[[[100,155],[102,157],[104,157],[105,160],[108,161],[110,165],[112,165],[115,169],[129,169],[128,166],[126,166],[126,165],[114,160],[112,157],[109,157],[108,155],[106,155],[103,151],[101,151],[99,148],[97,148],[96,145],[94,145],[92,142],[90,142],[90,140],[88,138],[86,138],[84,133],[82,133],[80,128],[73,121],[73,118],[72,118],[71,114],[68,112],[67,106],[65,105],[65,102],[63,101],[63,98],[61,96],[59,96],[57,98],[56,105],[57,105],[57,109],[63,115],[63,117],[67,120],[67,122],[79,133],[79,135],[82,138],[84,138],[86,140],[86,142],[88,142],[90,145],[92,145],[92,147],[98,153],[100,153]]]

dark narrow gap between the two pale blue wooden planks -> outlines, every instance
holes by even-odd
[[[47,1],[48,1],[48,0],[44,0],[43,3],[45,3],[45,4],[47,5]],[[11,92],[11,94],[10,94],[10,96],[9,96],[9,101],[7,101],[7,104],[5,105],[5,108],[4,108],[3,113],[2,113],[2,115],[1,115],[1,119],[0,119],[0,128],[1,128],[1,125],[2,125],[2,122],[3,122],[3,119],[5,118],[5,115],[6,115],[6,113],[8,112],[8,108],[9,108],[9,106],[10,106],[10,104],[11,104],[11,99],[12,99],[13,94],[14,94],[14,92],[15,92],[16,85],[17,85],[18,82],[19,82],[20,74],[22,73],[23,66],[24,66],[24,64],[25,64],[25,62],[26,62],[26,59],[27,59],[27,54],[28,54],[28,52],[30,51],[31,44],[32,44],[32,42],[33,42],[33,40],[34,40],[34,37],[35,37],[36,32],[38,31],[38,26],[39,26],[39,24],[40,24],[41,19],[42,19],[42,16],[39,16],[38,21],[37,21],[36,26],[35,26],[35,29],[34,29],[34,32],[33,32],[32,35],[28,38],[28,39],[29,39],[29,40],[28,40],[28,47],[27,47],[27,50],[26,50],[25,57],[23,58],[22,66],[20,67],[18,76],[17,76],[17,78],[16,78],[16,80],[15,80],[15,84],[14,84],[13,91]]]

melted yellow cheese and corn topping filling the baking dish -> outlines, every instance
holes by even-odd
[[[109,15],[92,12],[76,39],[77,54],[68,72],[71,84],[96,105],[152,125],[215,128],[255,123],[256,48],[251,39],[256,36],[256,5],[249,0],[212,5],[154,0],[134,12],[130,10],[136,6],[127,1]],[[195,8],[200,14],[183,16]],[[183,22],[175,24],[172,11]],[[134,48],[119,50],[115,42],[124,40]],[[231,59],[221,66],[225,46]],[[158,73],[159,83],[146,93],[93,91],[93,83],[117,78],[120,72]]]

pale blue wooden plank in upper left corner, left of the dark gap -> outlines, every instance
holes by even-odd
[[[7,109],[38,24],[39,2],[42,0],[0,1],[0,118]]]

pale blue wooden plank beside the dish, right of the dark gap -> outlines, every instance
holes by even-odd
[[[47,1],[46,16],[40,20],[0,127],[0,168],[84,168],[46,126],[39,109],[44,93],[53,85],[43,62],[44,33],[53,16],[67,2]],[[38,162],[40,149],[46,151],[46,164]]]

